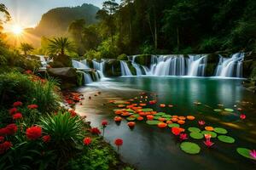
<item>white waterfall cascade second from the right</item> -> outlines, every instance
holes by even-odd
[[[207,65],[207,55],[189,55],[188,76],[203,77]]]

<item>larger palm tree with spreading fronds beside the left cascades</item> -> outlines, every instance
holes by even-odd
[[[61,54],[63,56],[66,52],[73,52],[75,49],[73,42],[69,41],[67,37],[55,37],[49,40],[49,54]]]

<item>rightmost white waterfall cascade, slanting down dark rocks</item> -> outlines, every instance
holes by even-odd
[[[216,77],[242,77],[244,53],[232,54],[230,58],[219,56]]]

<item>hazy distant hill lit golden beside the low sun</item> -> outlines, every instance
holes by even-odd
[[[87,3],[78,7],[53,8],[42,15],[38,26],[26,29],[26,32],[36,37],[61,36],[67,33],[67,28],[73,20],[84,19],[87,25],[96,23],[96,13],[99,9]],[[38,45],[38,42],[34,42],[34,45]]]

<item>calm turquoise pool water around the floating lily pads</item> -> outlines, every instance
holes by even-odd
[[[108,119],[105,139],[113,144],[116,138],[124,139],[120,154],[124,161],[138,169],[256,169],[255,161],[247,160],[236,153],[236,147],[256,149],[256,96],[242,88],[239,79],[189,78],[189,77],[119,77],[96,82],[79,88],[84,94],[83,105],[77,111],[86,115],[92,127],[100,127],[102,119]],[[96,92],[102,94],[94,96]],[[160,129],[145,122],[137,122],[131,130],[126,121],[118,126],[113,122],[114,105],[109,99],[132,99],[139,93],[157,94],[158,104],[172,104],[173,108],[154,106],[156,111],[171,115],[194,115],[196,120],[204,120],[212,127],[224,127],[228,135],[236,139],[235,144],[224,144],[218,139],[212,149],[207,149],[202,140],[189,139],[201,146],[199,155],[188,155],[179,148],[180,142],[170,128]],[[88,99],[91,96],[92,99]],[[194,102],[201,102],[195,105]],[[233,113],[214,112],[218,105],[232,108]],[[247,115],[241,121],[239,111]],[[197,121],[188,122],[183,127],[198,126]],[[114,144],[113,144],[114,146]]]

